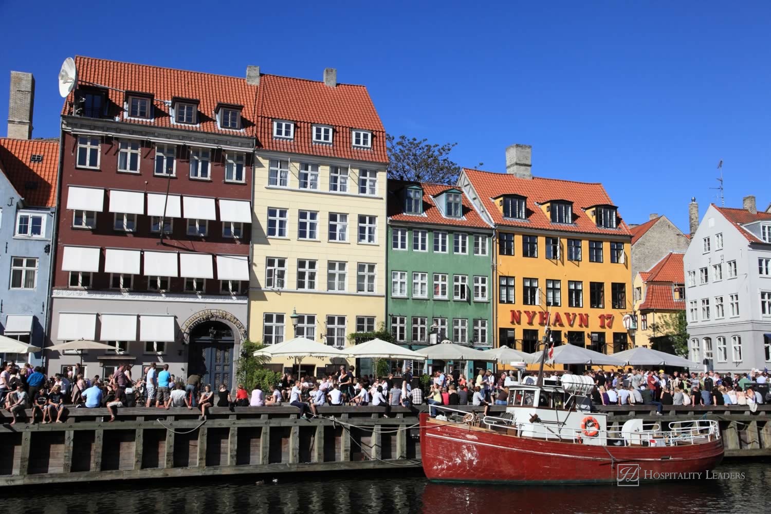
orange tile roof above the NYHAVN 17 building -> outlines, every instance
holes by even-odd
[[[463,169],[476,193],[480,196],[493,221],[499,225],[517,228],[533,228],[545,230],[560,230],[564,232],[595,233],[608,236],[630,236],[629,228],[623,220],[618,228],[608,229],[598,227],[592,222],[582,208],[596,205],[612,205],[613,202],[605,192],[601,183],[573,182],[571,180],[546,179],[534,177],[521,179],[508,173],[493,173],[489,171]],[[502,194],[518,194],[527,197],[527,210],[530,211],[527,220],[509,220],[503,218],[503,213],[493,203],[493,198]],[[574,223],[556,224],[546,216],[536,202],[546,202],[554,198],[564,198],[574,203]]]

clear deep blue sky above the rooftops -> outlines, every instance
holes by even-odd
[[[329,66],[368,86],[389,133],[456,142],[457,163],[490,171],[533,145],[535,175],[604,183],[628,223],[660,213],[687,230],[690,198],[702,214],[715,201],[719,160],[727,206],[771,202],[771,4],[302,3],[0,0],[20,36],[0,52],[0,119],[8,71],[33,72],[34,136],[58,136],[69,55],[234,76]]]

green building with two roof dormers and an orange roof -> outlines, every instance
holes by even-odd
[[[399,344],[493,348],[493,229],[453,186],[389,180],[387,316]],[[466,376],[483,361],[429,361]]]

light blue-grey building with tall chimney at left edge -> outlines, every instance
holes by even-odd
[[[0,138],[0,333],[42,348],[56,237],[59,139],[32,135],[32,74],[11,72],[8,138]],[[41,362],[37,354],[2,361]]]

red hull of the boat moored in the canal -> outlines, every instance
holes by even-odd
[[[520,438],[437,422],[425,414],[420,425],[423,471],[440,482],[632,485],[637,466],[641,481],[704,478],[723,457],[721,439],[662,447],[595,446]]]

